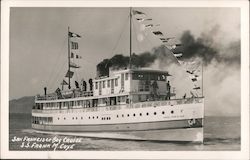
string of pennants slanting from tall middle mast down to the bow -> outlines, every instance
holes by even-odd
[[[177,47],[182,46],[181,43],[174,43],[171,44],[169,43],[170,40],[175,39],[175,37],[166,37],[160,30],[156,30],[155,28],[160,26],[160,24],[154,24],[152,23],[153,19],[152,18],[147,18],[147,15],[141,11],[133,10],[132,11],[133,15],[135,15],[135,19],[144,25],[145,29],[151,29],[151,32],[159,38],[159,40],[171,51],[173,56],[176,58],[177,62],[184,68],[187,74],[189,74],[189,78],[191,81],[194,83],[194,90],[199,90],[201,87],[197,85],[198,80],[200,80],[200,62],[186,62],[182,61],[181,57],[183,56],[183,53],[174,53],[173,50],[176,49]],[[191,93],[192,94],[192,93]]]

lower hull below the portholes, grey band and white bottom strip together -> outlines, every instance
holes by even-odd
[[[112,125],[40,125],[39,132],[95,138],[203,142],[202,119]],[[53,131],[53,132],[52,132]]]

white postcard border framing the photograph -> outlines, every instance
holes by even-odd
[[[240,7],[241,151],[9,151],[10,7]],[[63,159],[248,159],[249,158],[249,2],[248,1],[2,1],[1,2],[1,158]]]

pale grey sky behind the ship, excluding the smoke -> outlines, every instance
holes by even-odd
[[[196,38],[219,28],[214,41],[222,48],[240,40],[238,8],[135,8],[153,19],[168,37],[181,37],[189,30]],[[115,54],[129,55],[129,8],[11,8],[10,9],[10,99],[34,96],[60,87],[67,70],[67,29],[82,36],[79,42],[81,70],[77,77],[96,76],[96,65]],[[152,33],[133,19],[133,52],[140,54],[161,45]],[[221,52],[223,56],[225,52]],[[157,63],[157,62],[156,62]],[[154,67],[157,65],[154,65]],[[240,67],[211,62],[204,71],[204,91],[210,106],[230,105],[228,115],[240,114]],[[168,70],[170,67],[166,67]],[[223,78],[218,80],[221,75]],[[178,82],[178,80],[176,80]],[[181,82],[181,79],[179,80]],[[220,82],[218,84],[218,82]],[[218,85],[214,85],[217,83]],[[227,85],[234,84],[228,89]],[[178,84],[176,84],[178,85]],[[218,88],[222,87],[219,90]],[[212,88],[212,89],[211,89]],[[178,89],[178,88],[177,88]],[[215,93],[218,95],[215,96]],[[220,98],[221,101],[215,99]],[[232,102],[231,102],[232,101]],[[211,107],[216,115],[222,109]]]

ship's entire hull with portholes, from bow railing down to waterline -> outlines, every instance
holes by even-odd
[[[131,106],[33,110],[32,128],[84,137],[202,143],[203,103],[191,100],[193,103],[184,99]],[[48,123],[48,118],[53,120]]]

